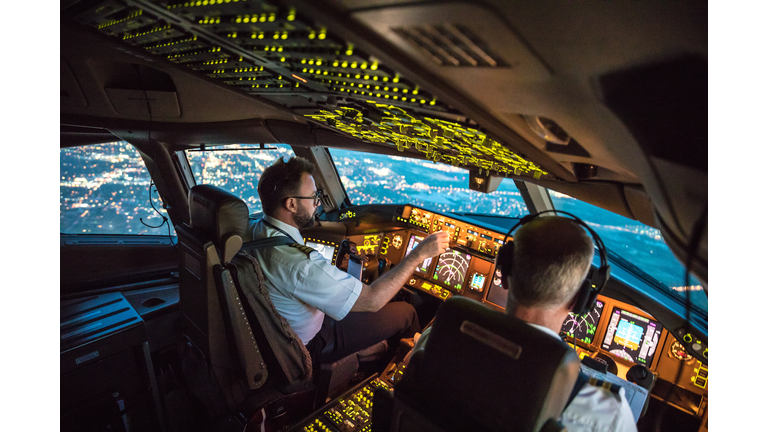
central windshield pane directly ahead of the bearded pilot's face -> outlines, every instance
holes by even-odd
[[[412,204],[440,212],[521,217],[528,208],[511,179],[493,193],[469,189],[466,169],[441,163],[329,149],[352,204]]]

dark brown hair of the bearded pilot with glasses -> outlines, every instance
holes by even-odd
[[[265,214],[273,215],[285,197],[298,193],[304,173],[314,174],[315,166],[299,156],[293,156],[288,162],[279,157],[261,173],[257,190]]]

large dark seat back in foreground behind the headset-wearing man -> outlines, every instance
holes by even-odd
[[[578,356],[562,341],[453,297],[384,410],[388,430],[538,432],[560,417],[578,373]]]

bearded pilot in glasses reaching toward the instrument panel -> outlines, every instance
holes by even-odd
[[[264,217],[254,225],[253,239],[287,236],[296,242],[255,254],[272,303],[301,338],[316,367],[385,339],[394,350],[401,338],[421,330],[413,306],[389,301],[419,263],[446,250],[448,235],[425,238],[399,265],[371,285],[364,284],[319,252],[300,247],[304,239],[299,229],[314,225],[320,204],[314,170],[301,157],[287,162],[279,158],[264,170],[258,184]]]

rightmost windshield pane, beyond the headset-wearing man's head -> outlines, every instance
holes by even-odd
[[[685,267],[672,254],[659,230],[559,192],[549,194],[555,209],[584,220],[610,252],[640,268],[666,287],[667,292],[685,301]],[[691,304],[706,314],[708,301],[701,282],[690,275],[687,289],[691,293]]]

